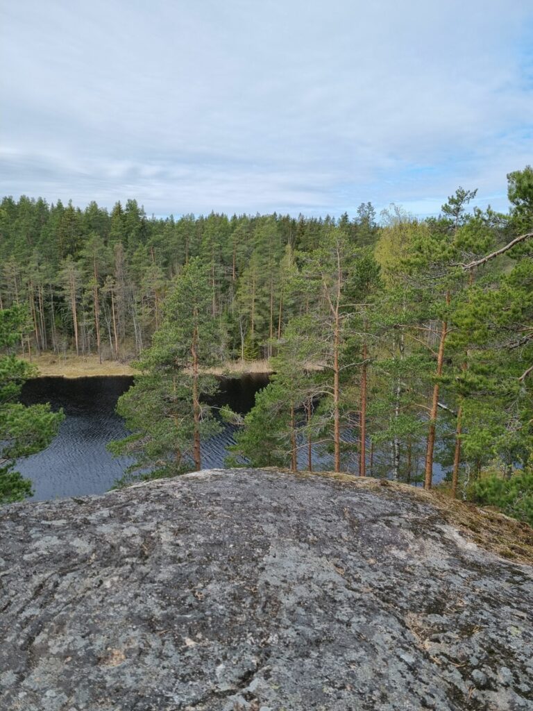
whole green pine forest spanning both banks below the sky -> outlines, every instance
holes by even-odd
[[[438,465],[452,496],[533,523],[533,169],[507,185],[507,213],[458,188],[423,220],[6,197],[0,311],[18,316],[1,345],[134,361],[131,434],[111,445],[136,458],[126,482],[200,469],[227,419],[233,466],[296,470],[305,453],[313,469],[321,449],[334,471],[431,488]],[[259,359],[273,375],[252,412],[212,411],[210,369]]]

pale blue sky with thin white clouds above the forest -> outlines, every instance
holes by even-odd
[[[4,0],[0,196],[146,213],[507,210],[533,0]]]

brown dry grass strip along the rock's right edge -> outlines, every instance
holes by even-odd
[[[423,488],[409,484],[386,479],[371,479],[370,476],[363,478],[352,474],[335,474],[331,471],[319,471],[316,474],[306,471],[298,472],[298,476],[316,475],[328,476],[381,493],[397,491],[414,496],[419,501],[434,506],[446,523],[453,525],[465,538],[480,548],[507,558],[507,560],[533,565],[533,528],[494,508],[478,508],[473,503],[457,501],[440,491],[425,491]]]

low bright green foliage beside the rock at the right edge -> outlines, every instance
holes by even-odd
[[[492,474],[484,476],[472,486],[471,496],[476,503],[497,506],[504,513],[533,526],[533,473],[522,471],[509,479]]]

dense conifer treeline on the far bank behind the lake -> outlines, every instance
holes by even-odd
[[[134,200],[109,214],[41,198],[0,205],[0,308],[27,304],[25,348],[100,358],[139,356],[161,321],[161,304],[183,265],[200,257],[210,272],[211,312],[230,357],[271,352],[291,318],[284,295],[294,252],[309,252],[330,228],[375,243],[370,203],[355,220],[218,215],[148,218]]]

